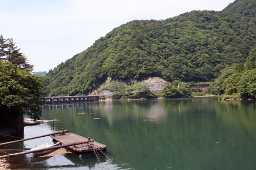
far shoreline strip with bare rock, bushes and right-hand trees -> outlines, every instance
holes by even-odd
[[[244,66],[242,66],[244,67]],[[235,64],[221,72],[213,82],[167,82],[160,77],[141,82],[111,80],[103,83],[92,94],[104,100],[173,99],[200,96],[218,96],[220,100],[253,100],[256,98],[256,69],[239,70]],[[254,73],[255,72],[255,73]],[[255,87],[254,87],[255,86]],[[111,98],[111,99],[109,99]]]

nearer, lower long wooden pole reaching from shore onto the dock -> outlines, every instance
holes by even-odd
[[[19,152],[16,154],[9,154],[9,155],[4,155],[4,156],[0,156],[0,159],[2,158],[7,158],[7,157],[11,157],[11,156],[18,156],[18,155],[24,155],[24,154],[30,154],[30,153],[34,153],[34,152],[41,152],[41,151],[48,151],[48,150],[55,150],[55,149],[59,149],[59,148],[64,148],[64,147],[69,147],[72,145],[77,145],[77,144],[82,144],[82,143],[88,143],[89,141],[79,141],[79,142],[74,142],[74,143],[69,143],[69,144],[62,144],[62,145],[58,145],[56,147],[49,147],[49,148],[44,148],[44,149],[39,149],[39,150],[33,150],[33,151],[26,151],[26,152]]]

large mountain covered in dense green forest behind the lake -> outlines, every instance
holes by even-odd
[[[50,70],[48,92],[88,93],[107,77],[168,82],[214,81],[244,63],[256,41],[256,1],[236,0],[222,11],[191,11],[165,20],[134,20]]]

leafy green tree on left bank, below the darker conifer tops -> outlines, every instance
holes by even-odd
[[[0,127],[23,114],[38,119],[43,87],[42,78],[31,75],[28,69],[0,61]]]

